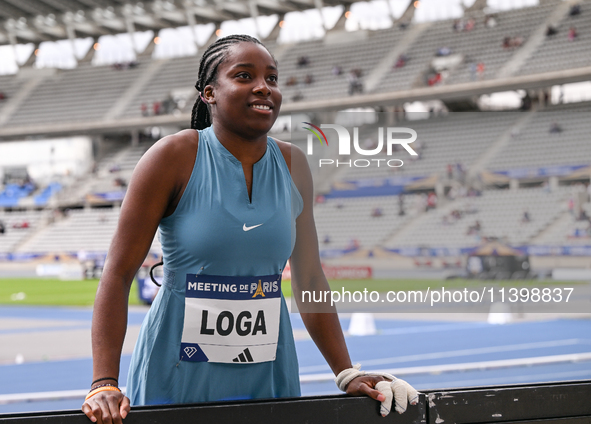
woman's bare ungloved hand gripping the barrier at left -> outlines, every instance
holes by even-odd
[[[82,412],[98,424],[122,424],[129,410],[129,398],[117,391],[97,393],[82,405]]]

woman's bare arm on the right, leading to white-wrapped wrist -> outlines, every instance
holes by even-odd
[[[296,146],[291,147],[291,175],[304,200],[304,208],[296,220],[296,243],[291,256],[293,296],[308,333],[332,371],[338,375],[352,365],[336,309],[330,305],[330,296],[328,296],[328,302],[313,305],[305,304],[301,297],[304,290],[324,293],[330,291],[330,286],[320,263],[318,236],[313,215],[312,174],[306,156]],[[382,377],[358,377],[348,384],[347,393],[357,396],[367,395],[381,402],[385,397],[374,387],[383,380]]]

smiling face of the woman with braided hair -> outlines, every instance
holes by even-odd
[[[247,42],[230,46],[217,82],[204,90],[214,125],[245,138],[267,134],[281,107],[277,79],[275,61],[263,46]]]

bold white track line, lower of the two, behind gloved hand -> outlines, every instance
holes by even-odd
[[[498,361],[466,362],[462,364],[427,365],[422,367],[392,368],[386,370],[371,370],[373,372],[387,372],[395,376],[411,374],[435,374],[453,371],[486,370],[494,368],[523,367],[542,364],[556,364],[560,362],[591,361],[591,352],[570,353],[566,355],[537,356],[532,358],[501,359]],[[366,370],[370,371],[370,370]],[[300,375],[301,383],[317,383],[334,380],[334,374],[305,374]]]

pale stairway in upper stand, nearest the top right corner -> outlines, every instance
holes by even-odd
[[[501,69],[499,69],[499,72],[497,72],[497,78],[507,78],[519,73],[519,70],[525,65],[527,60],[546,41],[546,29],[548,28],[548,25],[556,25],[558,22],[562,21],[568,14],[571,5],[576,2],[577,0],[560,2],[550,16],[548,16],[527,39],[525,44],[517,50],[513,57],[509,59]]]

